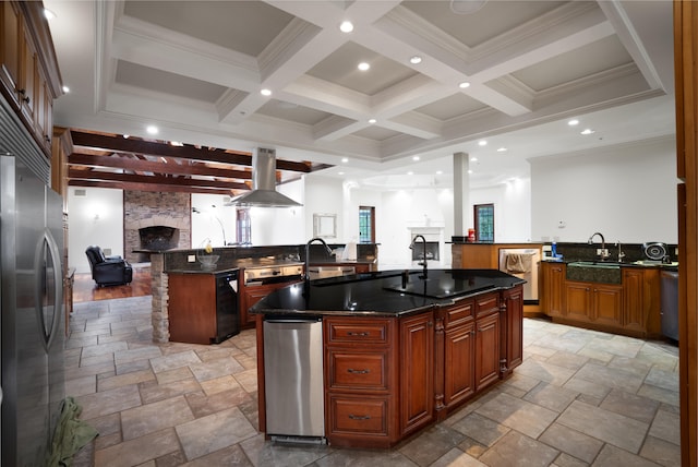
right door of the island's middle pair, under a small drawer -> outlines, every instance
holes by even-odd
[[[500,314],[476,323],[476,391],[500,379]]]

